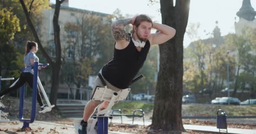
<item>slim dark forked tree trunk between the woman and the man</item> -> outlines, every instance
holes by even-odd
[[[32,5],[33,2],[34,2],[34,0],[32,0],[30,5]],[[23,0],[20,0],[20,3],[22,5],[22,8],[23,8],[24,13],[27,18],[27,23],[33,33],[35,41],[37,42],[39,49],[43,53],[43,56],[47,59],[48,63],[50,63],[51,67],[52,67],[50,102],[51,102],[51,104],[53,104],[55,106],[57,103],[57,93],[59,90],[59,77],[60,77],[60,70],[61,70],[61,64],[62,64],[62,62],[61,62],[59,12],[60,12],[61,3],[63,3],[63,2],[64,2],[64,0],[56,0],[55,12],[53,15],[54,44],[55,44],[55,55],[56,55],[56,58],[53,59],[48,55],[48,53],[43,48],[41,41],[38,37],[37,31],[35,29],[35,26],[33,25],[32,21],[29,17],[29,12],[27,10],[27,6],[25,5]]]

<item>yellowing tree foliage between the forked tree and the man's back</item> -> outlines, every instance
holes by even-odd
[[[111,59],[114,43],[111,19],[111,15],[84,13],[77,18],[76,23],[65,24],[68,46],[63,49],[65,58],[62,74],[63,77],[73,77],[69,78],[69,84],[87,86],[88,76],[96,74]],[[70,67],[73,71],[70,71]],[[67,83],[66,80],[64,82]]]

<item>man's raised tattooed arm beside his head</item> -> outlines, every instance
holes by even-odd
[[[112,24],[112,36],[116,41],[126,40],[130,41],[131,38],[128,33],[125,32],[124,27],[131,23],[131,19],[124,19],[115,21]]]

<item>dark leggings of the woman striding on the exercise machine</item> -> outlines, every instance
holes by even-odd
[[[13,90],[21,88],[26,82],[29,84],[29,87],[33,89],[33,77],[34,75],[32,75],[29,72],[22,72],[16,84],[10,88],[7,88],[6,90],[1,91],[0,96],[6,95],[7,93],[10,93]],[[38,88],[37,88],[37,101],[40,106],[43,106],[43,100]]]

